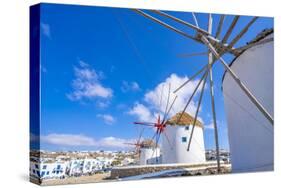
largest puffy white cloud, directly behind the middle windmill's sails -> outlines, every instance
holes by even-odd
[[[164,82],[159,83],[154,89],[148,91],[144,95],[144,102],[136,103],[134,107],[129,111],[129,114],[135,115],[138,117],[139,120],[147,121],[151,120],[155,114],[160,113],[163,116],[166,109],[166,104],[168,101],[168,93],[169,93],[169,84],[171,84],[171,92],[170,92],[170,99],[169,105],[171,105],[174,97],[177,95],[176,102],[173,105],[173,108],[170,112],[170,116],[174,115],[175,113],[181,112],[188,99],[190,98],[192,92],[194,91],[196,85],[198,84],[199,80],[190,81],[187,85],[185,85],[182,89],[180,89],[176,94],[173,93],[175,89],[177,89],[180,85],[182,85],[186,80],[188,80],[187,76],[180,77],[177,74],[171,74],[168,78],[165,79]],[[201,86],[198,88],[196,96],[198,95]],[[162,94],[161,94],[162,93]],[[194,96],[194,97],[196,97]],[[162,100],[161,100],[162,98]],[[190,113],[191,115],[195,115],[197,108],[197,103],[195,100],[191,100],[186,112]],[[200,108],[201,109],[201,108]],[[153,114],[153,115],[152,115]],[[154,118],[155,119],[155,118]],[[198,120],[203,122],[202,118],[198,117]],[[155,120],[154,120],[155,121]]]

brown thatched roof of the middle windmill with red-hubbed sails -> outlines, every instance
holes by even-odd
[[[179,120],[180,115],[181,115],[181,112],[177,113],[172,118],[170,118],[167,122],[167,125],[171,125],[171,126],[175,126],[175,125],[190,126],[190,125],[193,124],[194,118],[190,114],[184,112],[183,116]],[[203,124],[199,120],[196,120],[195,125],[203,128]]]

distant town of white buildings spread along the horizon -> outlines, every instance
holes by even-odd
[[[229,152],[221,150],[221,161],[229,163]],[[216,160],[215,150],[206,150],[206,160]],[[75,180],[109,180],[113,168],[139,165],[136,151],[30,151],[30,178],[45,184]],[[58,181],[60,180],[60,181]]]

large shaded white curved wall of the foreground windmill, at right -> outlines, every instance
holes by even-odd
[[[267,36],[273,37],[273,35]],[[231,68],[273,114],[273,42],[252,47]],[[273,127],[228,73],[223,80],[224,104],[233,172],[273,170]]]

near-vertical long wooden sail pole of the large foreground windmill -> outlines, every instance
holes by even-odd
[[[208,22],[208,31],[212,34],[213,27],[213,18],[212,15],[209,14],[209,22]],[[213,70],[211,68],[214,60],[214,55],[209,50],[208,54],[208,69],[209,69],[209,80],[210,80],[210,95],[211,95],[211,103],[212,103],[212,115],[214,122],[214,135],[215,135],[215,145],[216,145],[216,157],[217,157],[217,171],[220,172],[220,153],[219,153],[219,138],[218,138],[218,128],[217,128],[217,118],[216,118],[216,110],[215,110],[215,97],[214,97],[214,83],[213,83]]]

